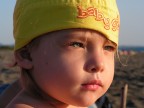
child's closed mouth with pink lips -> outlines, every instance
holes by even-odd
[[[102,86],[101,80],[91,80],[82,84],[82,88],[88,91],[96,91]]]

